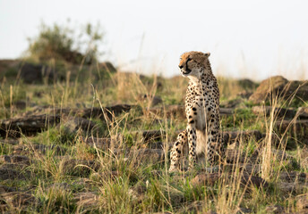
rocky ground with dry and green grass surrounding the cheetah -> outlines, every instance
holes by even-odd
[[[218,79],[222,172],[169,174],[186,80],[110,75],[2,78],[1,212],[308,213],[306,82]]]

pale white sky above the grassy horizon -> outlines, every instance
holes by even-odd
[[[122,70],[179,74],[181,53],[210,52],[214,74],[308,79],[308,1],[0,0],[0,59],[17,58],[39,25],[98,21],[103,59]]]

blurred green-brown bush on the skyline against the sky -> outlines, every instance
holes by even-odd
[[[98,59],[98,42],[102,39],[99,24],[93,27],[88,23],[77,33],[69,26],[69,22],[63,26],[55,23],[52,27],[42,23],[39,36],[28,38],[28,53],[30,58],[39,62],[53,59],[73,64],[90,64]]]

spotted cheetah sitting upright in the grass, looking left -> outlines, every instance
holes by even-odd
[[[188,52],[180,58],[179,69],[189,78],[185,97],[186,129],[177,136],[170,153],[169,171],[181,170],[181,158],[188,143],[188,170],[193,169],[197,155],[213,166],[224,156],[219,131],[219,90],[209,61],[210,53]]]

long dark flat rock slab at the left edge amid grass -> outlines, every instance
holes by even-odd
[[[32,136],[58,123],[60,123],[59,115],[51,116],[48,114],[4,119],[0,122],[0,136],[19,137],[21,133],[26,136]]]

